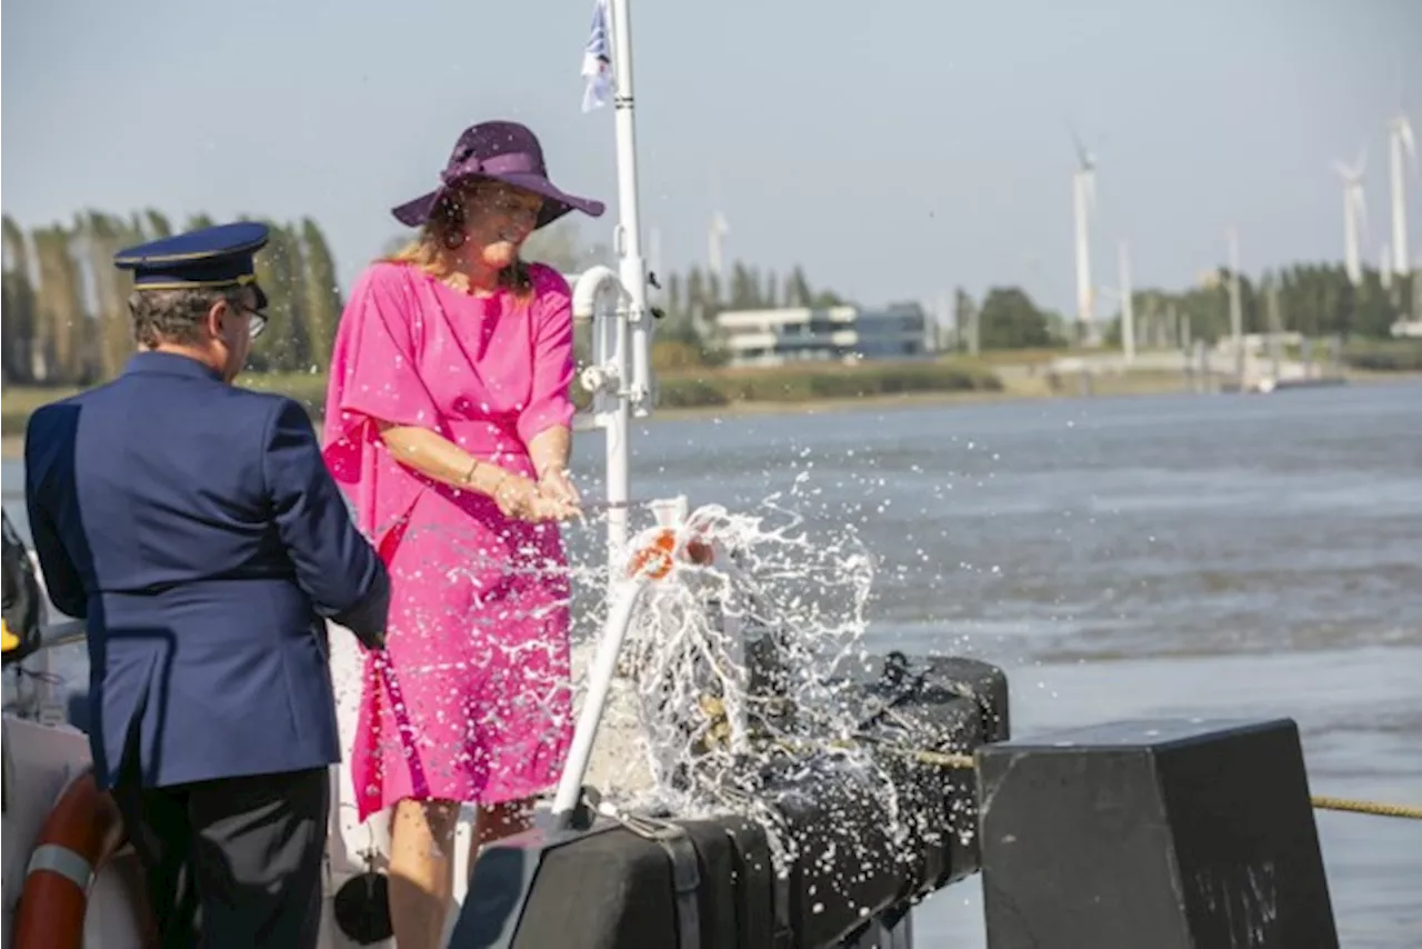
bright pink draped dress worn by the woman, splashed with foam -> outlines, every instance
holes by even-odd
[[[491,498],[398,464],[373,421],[432,428],[533,475],[529,441],[573,417],[573,324],[567,282],[540,265],[532,279],[532,300],[476,297],[377,263],[341,316],[324,457],[390,568],[387,654],[404,699],[392,709],[367,653],[351,751],[360,820],[402,798],[532,797],[563,765],[570,585],[557,525],[505,518]],[[412,743],[397,727],[405,713]]]

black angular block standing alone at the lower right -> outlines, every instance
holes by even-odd
[[[1294,721],[1123,721],[977,756],[988,949],[1337,949]]]

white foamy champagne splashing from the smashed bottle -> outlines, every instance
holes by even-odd
[[[811,538],[708,505],[638,535],[629,575],[654,579],[629,633],[638,751],[653,790],[633,808],[737,812],[771,832],[782,872],[796,841],[779,810],[798,778],[833,774],[846,801],[902,825],[893,781],[863,748],[865,609],[873,563],[849,528]],[[813,791],[811,791],[813,794]],[[613,794],[616,800],[616,794]],[[848,807],[848,804],[846,804]]]

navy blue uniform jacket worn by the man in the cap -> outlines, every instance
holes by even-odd
[[[390,580],[297,403],[139,353],[24,448],[50,599],[88,626],[104,787],[125,754],[146,787],[340,760],[321,617],[378,636]]]

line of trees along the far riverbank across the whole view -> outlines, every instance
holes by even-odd
[[[206,215],[183,230],[210,225]],[[304,218],[267,222],[272,242],[257,255],[257,279],[270,297],[272,322],[257,340],[253,371],[324,371],[343,309],[336,262],[321,228]],[[0,384],[87,386],[115,376],[134,350],[127,299],[132,277],[112,265],[117,250],[173,233],[169,219],[148,209],[127,218],[98,211],[23,230],[0,216]],[[387,250],[405,238],[390,242]],[[606,243],[587,242],[570,219],[533,235],[526,256],[565,273],[593,263],[613,265]],[[1136,343],[1176,347],[1213,343],[1230,332],[1229,272],[1219,267],[1185,290],[1139,289],[1132,296]],[[657,273],[650,297],[661,314],[658,339],[674,343],[701,364],[720,361],[715,316],[724,310],[828,307],[848,303],[812,286],[801,266],[788,273],[735,262],[722,279],[693,266]],[[1273,326],[1305,336],[1386,339],[1392,324],[1422,312],[1422,280],[1385,282],[1364,270],[1354,285],[1342,265],[1300,263],[1260,275],[1240,275],[1246,333]],[[1119,309],[1106,314],[1108,343],[1121,334]],[[1038,306],[1017,286],[988,289],[981,300],[954,295],[937,324],[943,350],[994,350],[1066,346],[1071,319]]]

